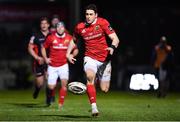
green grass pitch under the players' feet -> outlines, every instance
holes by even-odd
[[[58,92],[57,92],[58,93]],[[32,90],[0,91],[0,121],[180,121],[180,94],[157,98],[155,92],[97,92],[99,117],[91,117],[86,94],[68,92],[64,107],[45,106],[42,90],[37,99]]]

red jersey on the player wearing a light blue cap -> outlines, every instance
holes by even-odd
[[[52,33],[46,38],[43,46],[49,48],[49,58],[51,63],[49,65],[58,67],[67,63],[66,52],[72,36],[65,33],[65,36],[60,37],[57,33]]]

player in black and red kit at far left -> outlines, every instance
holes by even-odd
[[[49,34],[49,20],[46,17],[40,19],[40,31],[35,32],[28,44],[28,52],[33,57],[33,71],[35,78],[35,90],[33,98],[38,97],[39,91],[45,82],[46,64],[41,54],[41,45],[44,43],[46,36]]]

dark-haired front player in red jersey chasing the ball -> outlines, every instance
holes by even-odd
[[[94,80],[98,68],[106,60],[108,53],[113,54],[118,47],[119,39],[115,31],[110,26],[109,22],[98,17],[96,5],[90,4],[85,8],[86,21],[77,24],[74,31],[74,41],[68,47],[66,54],[69,62],[74,63],[76,59],[70,52],[80,36],[85,43],[85,57],[84,57],[84,71],[87,77],[87,94],[92,107],[92,116],[98,116],[99,111],[96,106],[96,89]],[[111,46],[108,47],[106,42],[106,35],[112,40]],[[101,88],[108,91],[111,76],[111,65],[107,66],[102,79],[99,79]]]

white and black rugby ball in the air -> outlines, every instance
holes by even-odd
[[[71,82],[68,84],[68,90],[74,94],[84,94],[86,89],[86,85],[81,82]]]

